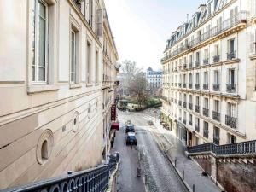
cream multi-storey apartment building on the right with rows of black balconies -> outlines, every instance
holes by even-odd
[[[256,138],[255,11],[208,0],[167,40],[162,119],[184,144]]]

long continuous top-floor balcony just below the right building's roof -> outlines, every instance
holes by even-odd
[[[196,46],[209,40],[210,38],[221,36],[223,32],[228,32],[233,26],[246,22],[247,12],[241,11],[237,15],[234,15],[232,18],[224,20],[219,26],[214,26],[209,31],[201,34],[201,36],[199,36],[198,38],[194,38],[192,41],[189,41],[188,44],[184,44],[183,47],[172,51],[171,54],[166,55],[164,58],[162,58],[161,62],[165,62],[173,56],[179,55],[188,49],[195,48]],[[166,46],[166,49],[169,49],[169,47]]]

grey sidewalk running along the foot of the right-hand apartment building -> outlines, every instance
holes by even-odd
[[[185,155],[185,146],[174,137],[172,131],[167,131],[160,125],[160,119],[154,124],[155,127],[160,131],[161,134],[166,137],[168,143],[170,143],[170,148],[166,149],[166,154],[172,160],[174,164],[175,159],[177,160],[176,169],[178,172],[182,173],[184,171],[184,181],[189,188],[193,189],[195,185],[195,192],[220,192],[221,189],[214,184],[210,177],[205,177],[201,175],[201,167],[196,165],[193,160],[190,160]]]

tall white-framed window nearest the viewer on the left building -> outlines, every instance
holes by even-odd
[[[46,84],[48,79],[48,4],[32,1],[32,82]]]

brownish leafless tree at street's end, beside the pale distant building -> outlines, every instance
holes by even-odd
[[[129,84],[129,90],[132,96],[137,99],[139,108],[142,108],[148,97],[148,81],[143,72],[136,73]]]

